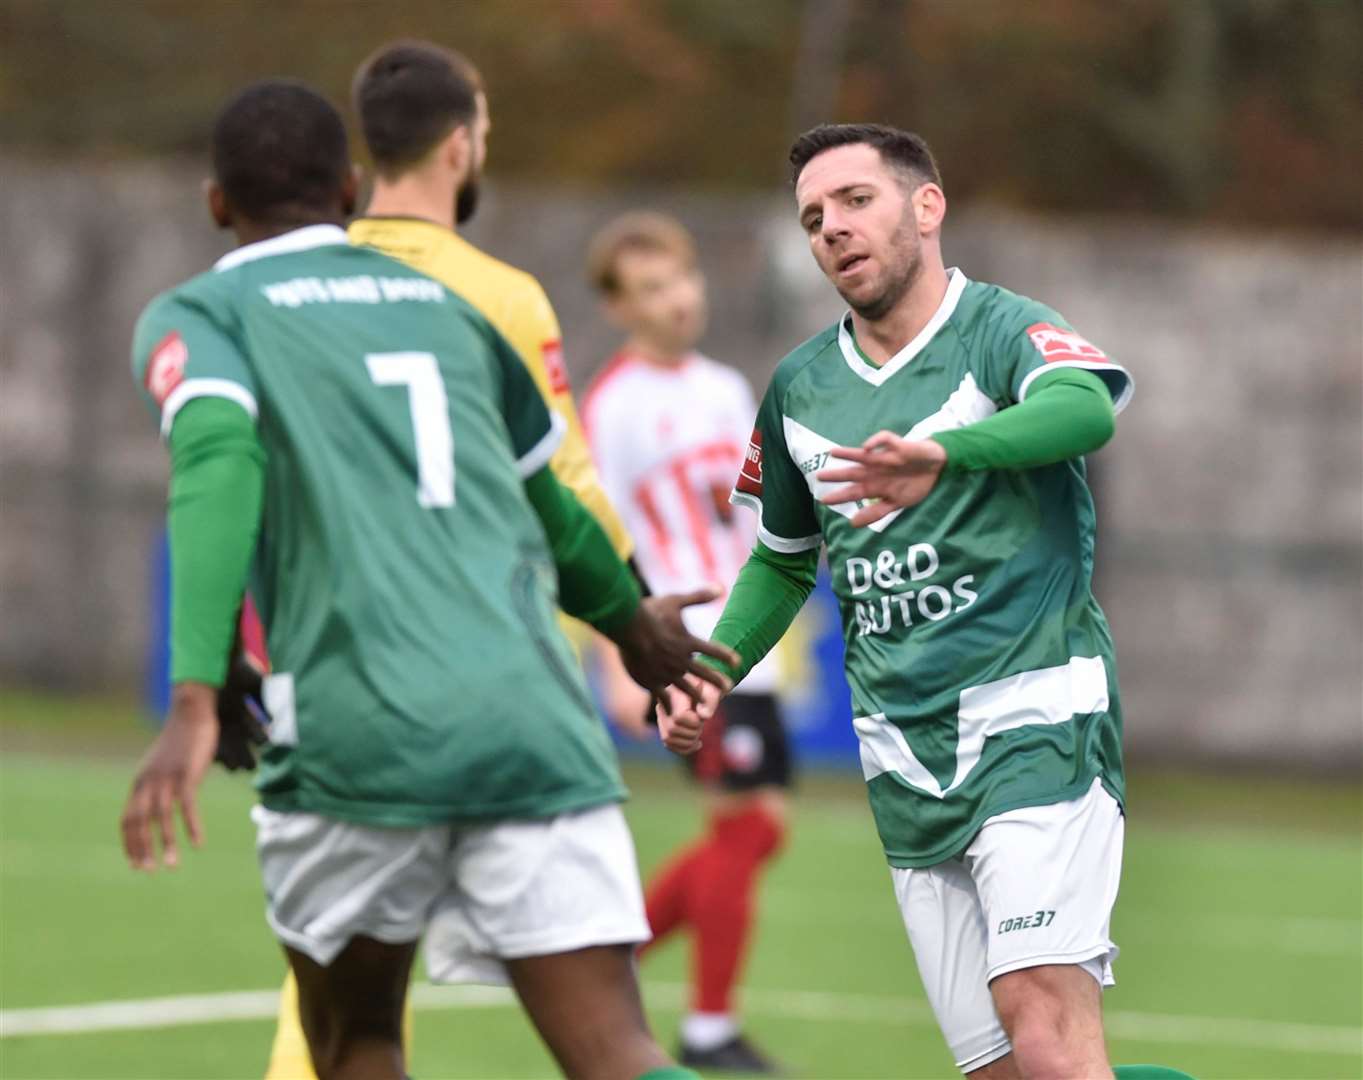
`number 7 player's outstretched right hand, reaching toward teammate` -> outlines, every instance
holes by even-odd
[[[682,686],[691,701],[699,702],[699,686],[709,683],[721,693],[728,693],[728,676],[709,664],[695,659],[695,653],[711,656],[721,663],[736,667],[737,655],[724,645],[692,635],[682,622],[682,610],[695,604],[709,604],[718,600],[721,589],[707,586],[680,596],[645,596],[634,619],[616,640],[620,659],[630,676],[645,690],[650,690],[661,702],[669,702],[665,695],[668,686]],[[694,678],[687,679],[691,675]]]

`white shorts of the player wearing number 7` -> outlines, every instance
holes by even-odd
[[[435,982],[507,982],[503,960],[649,940],[634,840],[616,805],[544,821],[380,829],[256,806],[266,918],[330,964],[356,935],[429,929]]]

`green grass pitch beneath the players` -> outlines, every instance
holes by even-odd
[[[0,1030],[44,1006],[277,987],[248,781],[215,772],[207,847],[125,869],[117,817],[146,734],[127,706],[0,697]],[[675,770],[630,770],[645,870],[698,826]],[[1118,1062],[1199,1077],[1363,1076],[1360,788],[1133,769],[1105,1008]],[[686,948],[643,968],[675,1038]],[[767,875],[747,1025],[800,1077],[946,1077],[859,780],[814,775]],[[143,1009],[143,1012],[146,1012]],[[271,1023],[0,1038],[0,1076],[254,1077]],[[538,1077],[552,1066],[500,1000],[416,1016],[413,1075]]]

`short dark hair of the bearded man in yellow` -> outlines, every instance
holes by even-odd
[[[427,41],[384,45],[360,64],[352,87],[369,155],[390,176],[473,123],[480,93],[483,76],[468,59]]]

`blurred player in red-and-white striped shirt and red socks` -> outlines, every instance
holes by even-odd
[[[695,350],[705,331],[705,280],[695,244],[675,220],[631,213],[607,225],[589,252],[589,274],[619,352],[583,397],[583,423],[601,483],[635,541],[635,560],[656,590],[737,575],[756,536],[729,506],[756,402],[747,380]],[[722,600],[688,612],[707,633]],[[613,646],[601,649],[607,712],[645,734],[647,695]],[[654,944],[692,934],[691,1010],[682,1021],[684,1064],[771,1072],[743,1036],[733,991],[756,911],[762,870],[781,847],[791,755],[767,657],[725,698],[702,750],[687,761],[705,791],[709,829],[664,866],[647,889]],[[647,948],[647,946],[646,946]]]

